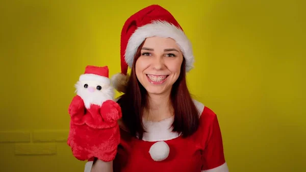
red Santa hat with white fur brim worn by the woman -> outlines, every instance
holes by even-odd
[[[125,91],[129,80],[127,68],[132,67],[134,55],[145,38],[159,36],[172,38],[181,48],[186,60],[186,71],[193,68],[191,42],[172,14],[159,5],[150,5],[128,18],[121,31],[121,73],[112,77],[113,86],[120,92]]]

